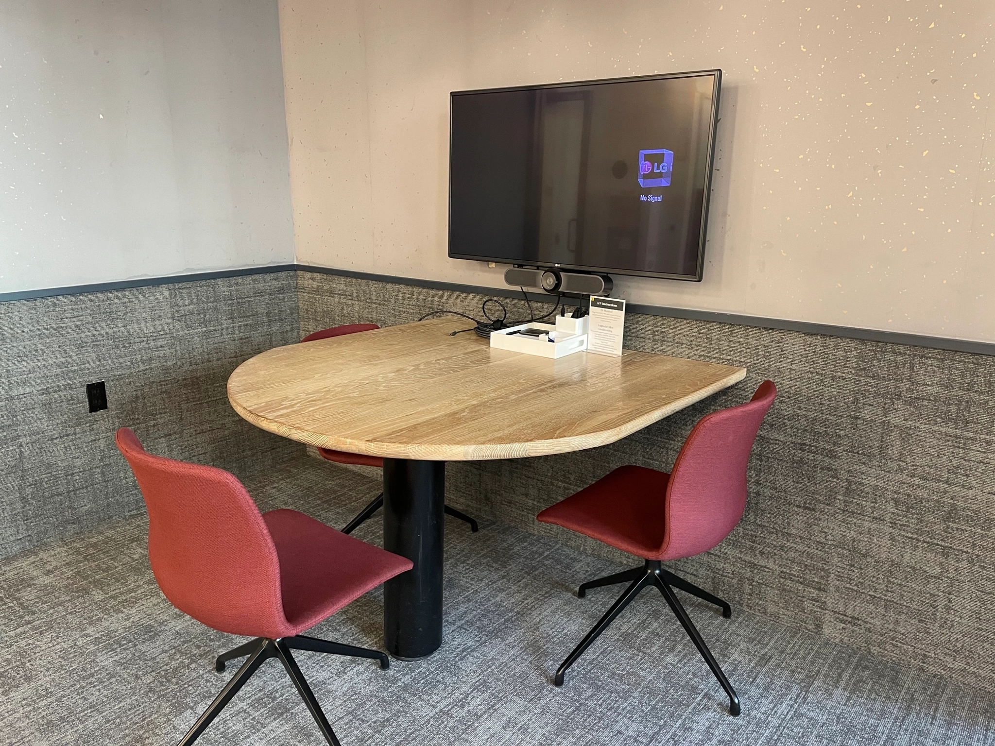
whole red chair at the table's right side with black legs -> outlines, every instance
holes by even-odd
[[[584,598],[590,588],[631,583],[557,669],[553,679],[557,686],[563,684],[566,669],[629,602],[644,588],[656,586],[728,694],[729,712],[739,714],[736,692],[672,586],[720,607],[723,617],[731,617],[732,610],[721,599],[668,572],[661,563],[712,549],[739,522],[746,506],[746,466],[753,440],[776,396],[773,382],[764,381],[746,404],[701,418],[671,473],[622,466],[539,513],[543,523],[569,528],[645,560],[643,567],[580,586],[577,596]]]

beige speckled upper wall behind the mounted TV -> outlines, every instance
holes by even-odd
[[[634,302],[995,341],[990,0],[281,0],[298,262],[449,260],[455,90],[721,68],[704,281]]]

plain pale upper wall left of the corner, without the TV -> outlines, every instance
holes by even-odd
[[[294,261],[276,0],[0,2],[0,294]]]

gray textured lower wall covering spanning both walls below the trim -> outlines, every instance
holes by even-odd
[[[483,299],[283,272],[0,303],[0,556],[142,509],[117,427],[236,473],[296,453],[228,405],[225,382],[251,355],[336,323],[477,315]],[[505,302],[525,317],[523,302]],[[605,448],[451,464],[447,501],[626,559],[535,513],[616,466],[668,469],[699,417],[770,377],[780,397],[746,515],[680,571],[769,618],[995,689],[995,357],[636,314],[626,344],[750,373]],[[99,380],[110,409],[92,415],[85,386]]]

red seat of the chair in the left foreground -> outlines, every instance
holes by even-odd
[[[413,567],[411,560],[336,531],[297,510],[263,514],[280,558],[284,614],[299,635]]]

